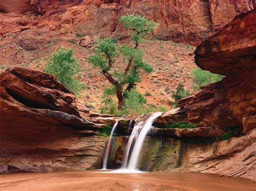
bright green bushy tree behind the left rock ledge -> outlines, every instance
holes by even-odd
[[[67,88],[72,90],[76,96],[84,88],[84,84],[78,80],[81,67],[77,60],[73,57],[73,49],[60,48],[59,51],[53,53],[48,65],[44,68],[44,72],[53,74]]]

